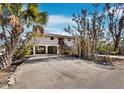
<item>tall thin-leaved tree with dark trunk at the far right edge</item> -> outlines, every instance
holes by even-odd
[[[124,30],[124,5],[107,3],[104,8],[106,25],[114,41],[114,50],[118,51],[119,42]]]

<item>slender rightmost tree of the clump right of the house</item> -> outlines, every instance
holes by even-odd
[[[94,60],[96,60],[96,50],[100,45],[100,42],[102,41],[102,39],[104,38],[104,15],[102,12],[99,13],[98,11],[98,7],[99,4],[93,4],[94,6],[94,11],[92,12],[91,15],[91,24],[90,24],[90,29],[91,30],[91,34],[92,34],[92,43],[93,43],[93,48],[92,48],[92,52],[93,52],[93,57]]]

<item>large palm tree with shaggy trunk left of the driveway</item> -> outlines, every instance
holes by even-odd
[[[24,8],[25,7],[25,8]],[[27,38],[25,27],[30,25],[42,26],[47,22],[46,12],[39,12],[38,4],[0,4],[0,37],[5,46],[5,52],[0,56],[1,68],[12,64],[16,50]]]

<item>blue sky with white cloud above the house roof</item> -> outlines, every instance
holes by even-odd
[[[102,11],[103,4],[100,4],[99,11]],[[48,14],[48,23],[45,26],[45,32],[54,34],[66,34],[63,29],[67,25],[72,25],[72,15],[80,13],[81,9],[87,9],[89,12],[94,10],[93,5],[87,3],[41,3],[40,11],[46,11]]]

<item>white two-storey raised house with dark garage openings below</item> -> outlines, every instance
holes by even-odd
[[[72,46],[72,37],[45,33],[42,37],[33,40],[33,55],[35,54],[61,54],[60,46]]]

